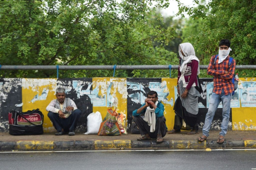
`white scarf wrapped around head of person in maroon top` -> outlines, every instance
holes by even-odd
[[[182,52],[184,53],[185,56],[182,55],[181,50],[182,50]],[[195,50],[194,50],[194,47],[191,43],[179,44],[179,57],[181,57],[182,60],[184,60],[181,67],[179,68],[179,71],[181,71],[182,76],[185,74],[187,63],[189,63],[191,60],[197,60],[198,61],[197,75],[199,75],[199,73],[200,73],[199,59],[195,56]]]

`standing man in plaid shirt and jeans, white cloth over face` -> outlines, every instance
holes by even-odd
[[[232,78],[235,72],[235,60],[232,60],[231,66],[229,67],[229,52],[232,51],[230,48],[230,41],[223,39],[219,42],[219,54],[215,61],[215,57],[211,56],[209,66],[207,68],[207,74],[214,76],[213,78],[213,93],[209,104],[209,109],[206,114],[205,124],[203,125],[203,136],[198,138],[199,142],[203,142],[209,136],[209,129],[215,111],[218,108],[220,102],[222,102],[222,123],[221,132],[217,139],[218,144],[222,144],[225,141],[225,135],[227,133],[227,127],[229,125],[229,113],[230,113],[230,101],[232,92],[234,91],[234,84]]]

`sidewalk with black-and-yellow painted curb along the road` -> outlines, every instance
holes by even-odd
[[[13,136],[0,132],[0,151],[256,148],[256,131],[229,130],[223,144],[217,144],[219,131],[210,131],[205,142],[197,141],[202,131],[195,135],[187,135],[187,132],[166,134],[160,144],[155,139],[137,141],[141,135],[130,133],[121,136],[85,135],[81,132],[76,132],[75,136],[55,136],[54,133]]]

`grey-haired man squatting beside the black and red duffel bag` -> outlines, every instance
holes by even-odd
[[[59,87],[56,89],[57,99],[52,100],[46,107],[48,117],[57,130],[55,135],[63,135],[69,132],[69,136],[74,136],[74,130],[77,126],[81,111],[77,109],[75,102],[70,98],[65,98],[65,89]]]

